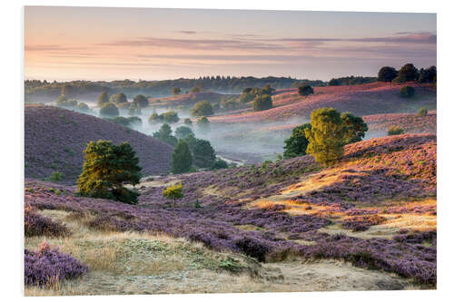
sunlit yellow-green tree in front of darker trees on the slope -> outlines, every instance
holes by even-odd
[[[340,160],[343,156],[346,128],[341,114],[334,108],[314,110],[311,112],[311,128],[304,130],[309,141],[306,152],[324,165]]]

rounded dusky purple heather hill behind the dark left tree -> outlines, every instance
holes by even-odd
[[[64,183],[74,183],[89,141],[129,141],[139,157],[143,175],[170,170],[173,147],[114,122],[53,106],[25,106],[25,177],[43,179],[54,170]]]

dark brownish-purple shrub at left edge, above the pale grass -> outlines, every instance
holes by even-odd
[[[24,227],[25,237],[64,237],[70,234],[66,226],[39,215],[34,209],[28,206],[25,207],[24,211]]]

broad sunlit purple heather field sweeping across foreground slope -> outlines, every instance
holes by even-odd
[[[183,182],[184,198],[173,207],[162,190],[175,181]],[[138,205],[26,179],[25,205],[90,213],[94,229],[166,233],[262,262],[341,259],[435,287],[436,185],[436,136],[404,134],[348,145],[329,169],[304,156],[156,177],[138,186]],[[405,219],[435,225],[400,227]]]

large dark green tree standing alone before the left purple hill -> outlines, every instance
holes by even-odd
[[[137,203],[139,194],[123,187],[136,185],[141,179],[133,147],[128,142],[90,141],[84,150],[84,166],[77,180],[79,194],[94,198]]]

